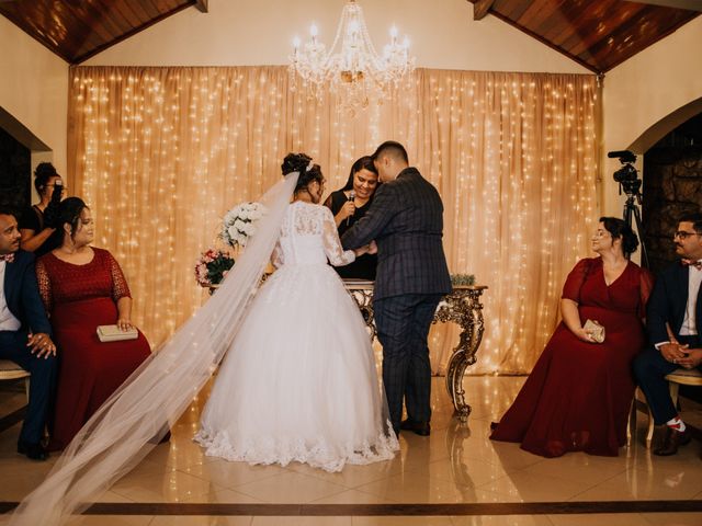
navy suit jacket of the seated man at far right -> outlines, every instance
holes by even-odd
[[[656,278],[646,309],[646,328],[652,345],[669,340],[666,322],[670,324],[676,336],[680,335],[688,307],[689,274],[690,270],[687,266],[675,263]],[[702,329],[702,294],[698,294],[694,316],[698,331],[700,331]]]

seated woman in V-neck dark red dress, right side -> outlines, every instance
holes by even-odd
[[[621,219],[602,217],[599,258],[579,261],[563,288],[563,321],[490,438],[519,442],[544,457],[567,451],[616,456],[626,442],[634,396],[632,361],[644,347],[653,278],[627,260],[638,240]],[[596,342],[584,325],[604,327]]]

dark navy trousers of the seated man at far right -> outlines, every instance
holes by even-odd
[[[700,336],[679,336],[678,341],[687,343],[690,347],[700,347]],[[641,390],[646,395],[646,402],[654,415],[657,425],[675,419],[678,409],[672,404],[666,375],[680,368],[663,357],[656,347],[648,347],[634,359],[634,376]],[[700,367],[698,367],[700,369]]]

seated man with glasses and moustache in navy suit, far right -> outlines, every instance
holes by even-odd
[[[656,279],[648,300],[646,327],[652,346],[634,361],[634,374],[658,425],[666,424],[655,455],[675,455],[690,442],[691,433],[672,404],[665,376],[702,364],[702,214],[682,217],[672,237],[682,258]]]

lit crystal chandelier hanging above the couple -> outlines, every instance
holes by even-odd
[[[312,96],[319,99],[326,89],[340,95],[339,103],[354,110],[365,107],[370,100],[382,103],[415,70],[415,58],[409,56],[409,38],[400,43],[397,28],[390,28],[390,43],[378,55],[371,42],[363,10],[355,0],[349,0],[341,12],[333,44],[326,50],[317,39],[315,24],[309,28],[310,39],[301,48],[299,38],[293,42],[290,57],[292,88],[301,78]]]

